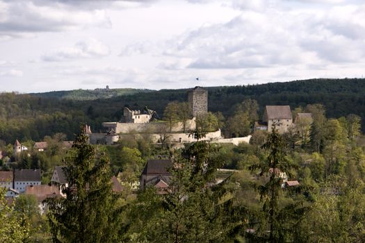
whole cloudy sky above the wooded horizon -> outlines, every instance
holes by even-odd
[[[364,75],[365,1],[0,0],[0,92]]]

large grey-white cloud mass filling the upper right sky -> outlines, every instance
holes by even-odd
[[[202,26],[170,40],[163,53],[191,58],[188,67],[195,69],[364,61],[363,6],[266,11],[260,10],[261,3],[257,1],[257,6],[249,6],[230,22]]]

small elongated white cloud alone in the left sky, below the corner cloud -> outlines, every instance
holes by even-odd
[[[78,58],[97,58],[108,56],[109,48],[95,39],[78,42],[74,47],[63,47],[42,56],[42,60],[47,62],[59,62],[63,60]]]

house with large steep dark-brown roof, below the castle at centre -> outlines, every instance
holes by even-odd
[[[171,167],[171,160],[148,160],[140,176],[140,189],[154,186],[160,194],[165,193],[171,181]]]

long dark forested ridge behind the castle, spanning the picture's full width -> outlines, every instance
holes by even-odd
[[[266,105],[290,105],[293,110],[310,103],[322,103],[327,117],[359,115],[365,131],[365,79],[316,79],[206,89],[209,90],[209,110],[220,111],[226,118],[233,115],[236,104],[249,98],[259,103],[260,116]],[[6,144],[16,139],[40,141],[54,133],[65,133],[71,140],[81,121],[98,132],[103,121],[119,121],[125,105],[140,110],[147,106],[162,116],[169,102],[188,98],[186,89],[135,91],[135,94],[131,90],[110,99],[88,97],[82,101],[70,95],[71,99],[60,99],[67,97],[67,93],[62,92],[0,94],[0,140]]]

